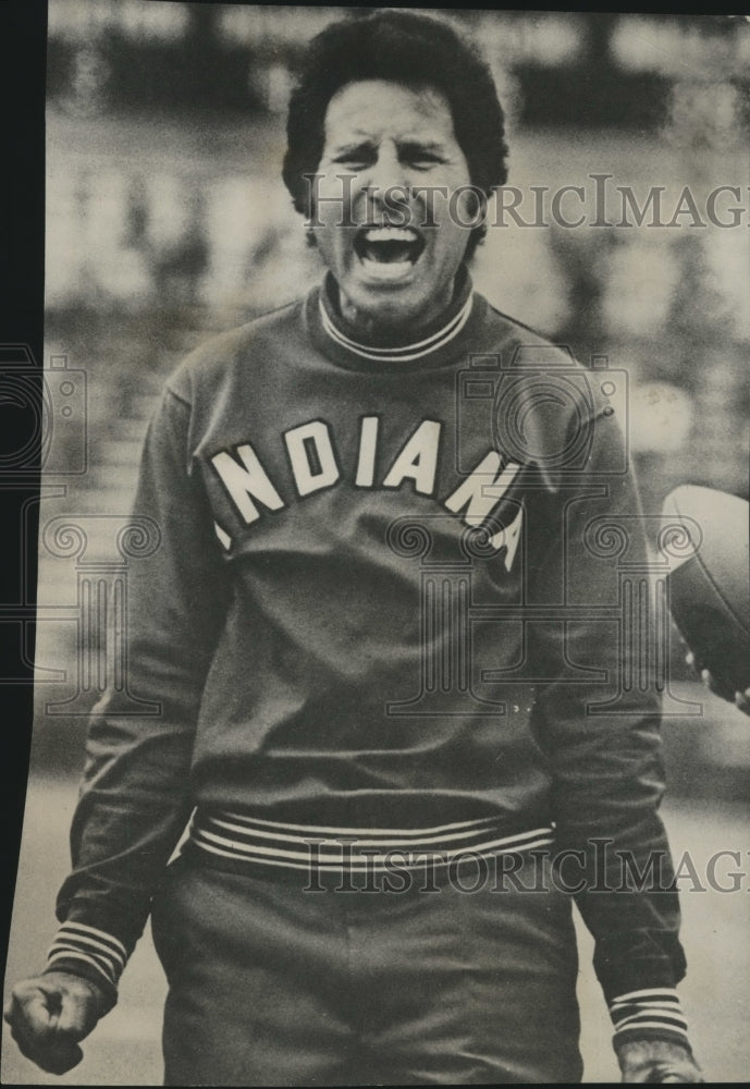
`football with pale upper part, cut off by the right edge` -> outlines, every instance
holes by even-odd
[[[731,699],[750,685],[750,504],[683,485],[667,495],[662,518],[672,616],[697,666]]]

